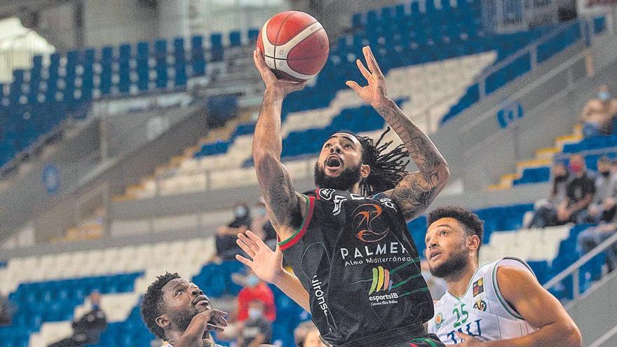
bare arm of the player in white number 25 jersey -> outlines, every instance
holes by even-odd
[[[497,268],[499,291],[506,303],[535,327],[535,332],[501,341],[481,342],[466,334],[456,333],[463,343],[456,346],[532,347],[563,346],[581,347],[583,339],[576,323],[560,302],[538,283],[529,271],[512,266]]]

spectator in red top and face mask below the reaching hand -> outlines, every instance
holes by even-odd
[[[269,322],[276,319],[276,306],[274,306],[274,294],[266,283],[260,280],[252,270],[249,270],[245,278],[245,287],[238,293],[238,321],[244,322],[249,318],[249,304],[258,300],[264,303],[264,317]]]

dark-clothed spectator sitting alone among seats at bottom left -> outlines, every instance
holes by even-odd
[[[107,317],[100,308],[101,294],[97,291],[88,296],[92,309],[73,322],[73,335],[57,341],[49,347],[78,347],[99,343],[101,334],[107,329]]]

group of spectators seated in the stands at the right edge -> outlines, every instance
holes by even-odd
[[[617,99],[611,97],[608,86],[598,88],[597,98],[588,101],[580,119],[585,138],[613,135]],[[524,226],[589,224],[577,238],[583,254],[617,233],[617,159],[599,156],[596,164],[597,170],[588,170],[582,154],[557,161],[552,167],[550,196],[536,202]],[[605,253],[608,270],[613,271],[617,266],[617,244]]]

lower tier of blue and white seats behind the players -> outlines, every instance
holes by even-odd
[[[532,204],[522,204],[476,210],[485,221],[480,258],[482,262],[504,255],[526,259],[543,283],[578,259],[576,236],[588,226],[519,231],[524,213],[532,209]],[[423,257],[426,217],[409,222],[408,227]],[[166,256],[170,252],[174,257]],[[6,279],[0,292],[10,293],[18,312],[13,325],[0,327],[0,339],[3,346],[25,347],[29,336],[36,343],[67,336],[69,321],[86,310],[84,298],[97,289],[103,294],[102,308],[109,312],[109,328],[96,346],[149,346],[154,336],[143,325],[138,304],[156,275],[178,271],[192,278],[215,302],[238,294],[240,287],[231,275],[243,271],[243,265],[238,261],[210,263],[214,252],[214,240],[192,239],[9,259],[0,268],[0,276]],[[583,288],[602,274],[603,257],[599,255],[581,271]],[[282,346],[293,346],[294,327],[310,317],[276,287],[273,291],[278,310],[273,339]],[[553,292],[560,299],[571,298],[571,280],[564,280]]]

